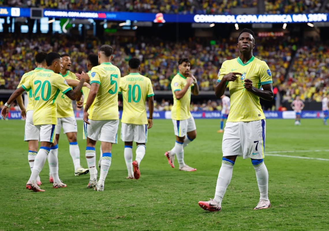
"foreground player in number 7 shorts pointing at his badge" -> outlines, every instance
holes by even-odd
[[[213,212],[221,210],[222,199],[231,181],[237,156],[251,158],[256,171],[260,200],[254,209],[267,209],[271,206],[267,196],[268,172],[263,160],[265,116],[259,100],[273,99],[271,71],[265,61],[253,56],[253,31],[243,29],[237,46],[239,57],[223,62],[215,87],[215,95],[219,98],[229,83],[231,110],[223,135],[222,166],[218,173],[215,198],[199,201],[201,208]],[[261,86],[263,90],[260,89]]]

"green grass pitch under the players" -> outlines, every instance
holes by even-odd
[[[329,161],[266,156],[272,207],[254,211],[259,200],[255,171],[238,158],[222,212],[199,208],[213,198],[221,165],[218,120],[195,120],[197,138],[185,148],[185,162],[196,172],[172,169],[164,157],[175,142],[170,120],[154,120],[148,132],[139,180],[127,180],[123,142],[112,150],[104,192],[87,189],[89,174],[74,176],[64,134],[59,143],[59,173],[67,188],[53,189],[48,163],[40,173],[44,193],[25,189],[30,176],[24,121],[0,122],[0,230],[329,230]],[[86,142],[78,121],[81,164]],[[119,132],[120,133],[120,128]],[[266,151],[328,150],[329,127],[321,120],[266,121]],[[99,144],[96,146],[97,161]],[[134,157],[136,145],[134,144]],[[329,159],[328,151],[275,153]]]

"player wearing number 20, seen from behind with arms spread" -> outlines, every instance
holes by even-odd
[[[1,115],[5,118],[8,114],[10,104],[22,94],[24,90],[32,90],[34,94],[33,124],[38,128],[41,142],[40,149],[35,157],[30,179],[26,183],[26,188],[34,192],[44,192],[44,190],[39,188],[36,181],[47,159],[48,153],[48,161],[50,162],[52,168],[51,173],[54,178],[53,187],[66,187],[58,176],[58,146],[54,136],[55,126],[57,124],[56,98],[58,94],[62,92],[71,100],[76,100],[85,81],[85,79],[82,79],[74,90],[68,86],[63,77],[57,74],[62,68],[61,56],[58,53],[50,52],[46,56],[46,63],[46,69],[31,75],[30,78],[23,82],[21,87],[14,91],[1,111]]]

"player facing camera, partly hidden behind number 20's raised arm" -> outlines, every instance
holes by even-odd
[[[76,80],[74,73],[70,71],[71,59],[68,54],[62,55],[63,68],[61,70],[61,76],[65,80]],[[57,98],[57,113],[58,121],[56,127],[56,141],[59,143],[61,129],[63,127],[64,133],[67,136],[69,142],[70,155],[74,165],[74,175],[79,176],[89,172],[88,169],[83,168],[80,165],[80,149],[77,142],[77,122],[74,117],[72,101],[65,94],[61,94]],[[49,176],[49,181],[52,182],[52,176]]]

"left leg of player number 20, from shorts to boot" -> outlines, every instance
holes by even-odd
[[[41,172],[44,163],[46,162],[47,155],[50,147],[55,142],[55,125],[38,125],[36,126],[40,132],[40,149],[34,161],[33,170],[26,188],[35,192],[44,192],[36,184],[39,173]]]

